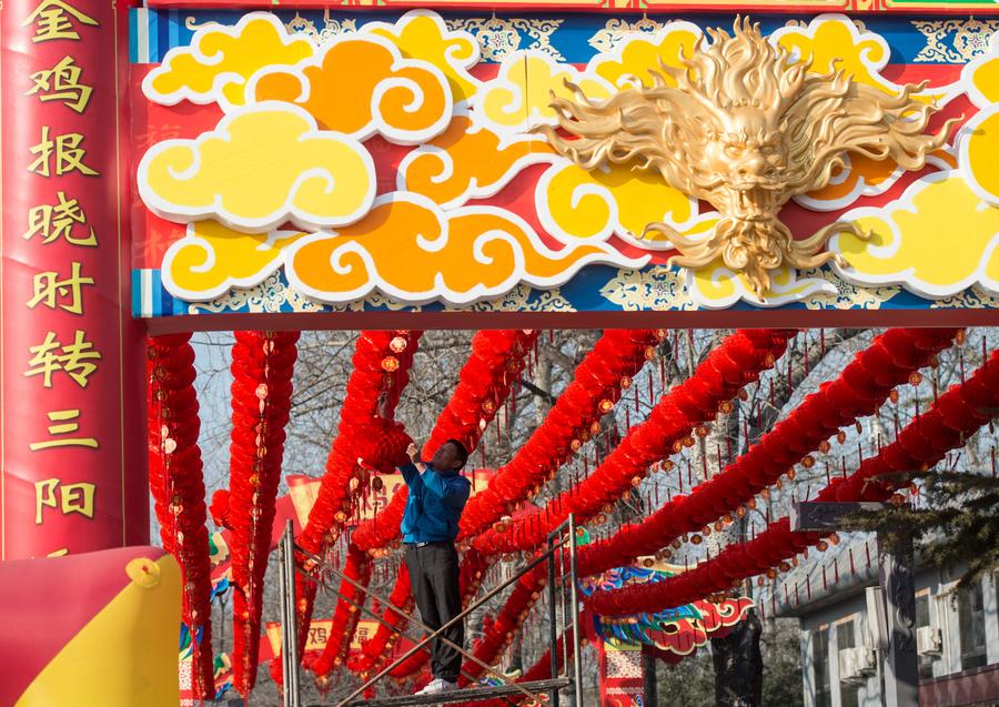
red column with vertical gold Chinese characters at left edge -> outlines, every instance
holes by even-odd
[[[128,2],[0,10],[0,557],[149,535],[130,316]]]

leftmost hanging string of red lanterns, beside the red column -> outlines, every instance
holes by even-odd
[[[149,487],[163,548],[181,567],[182,619],[191,632],[194,694],[211,700],[215,698],[211,564],[190,340],[185,333],[147,342]]]

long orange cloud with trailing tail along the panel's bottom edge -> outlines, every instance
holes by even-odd
[[[468,304],[518,283],[553,287],[591,263],[628,266],[603,243],[553,251],[519,216],[491,206],[443,212],[424,196],[396,192],[335,233],[306,235],[289,246],[285,273],[297,292],[350,302],[377,290],[406,302]]]

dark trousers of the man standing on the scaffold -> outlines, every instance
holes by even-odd
[[[428,543],[422,547],[406,547],[406,568],[410,584],[423,623],[432,632],[437,630],[462,613],[462,596],[458,586],[457,551],[454,543],[443,541]],[[464,647],[465,622],[455,622],[441,636]],[[462,668],[462,654],[443,640],[431,642],[431,669],[434,677],[457,683]]]

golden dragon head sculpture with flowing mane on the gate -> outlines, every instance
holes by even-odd
[[[924,84],[897,95],[854,82],[842,71],[815,73],[768,42],[757,24],[736,19],[731,36],[708,29],[682,68],[660,65],[653,85],[635,79],[608,100],[589,100],[567,85],[575,100],[553,94],[558,127],[544,132],[555,150],[584,169],[607,162],[658,171],[672,186],[709,202],[720,214],[702,238],[650,223],[680,252],[670,263],[699,267],[716,259],[745,273],[757,296],[781,264],[816,267],[838,255],[820,252],[835,231],[865,233],[830,223],[795,240],[780,221],[795,194],[821,189],[844,156],[854,152],[922,168],[928,152],[947,140],[947,121],[926,134],[937,108],[914,98]]]

